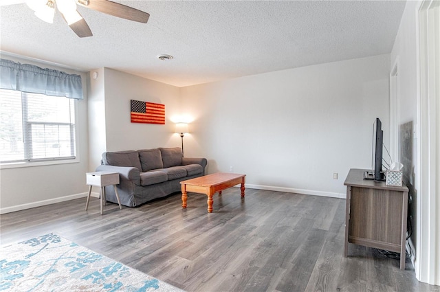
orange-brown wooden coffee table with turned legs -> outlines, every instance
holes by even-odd
[[[236,173],[217,172],[212,175],[181,181],[181,207],[186,208],[187,192],[199,192],[208,196],[208,213],[212,213],[212,195],[241,183],[241,197],[245,196],[245,177]]]

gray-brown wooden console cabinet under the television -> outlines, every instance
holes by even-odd
[[[351,169],[347,186],[344,256],[349,243],[400,253],[405,269],[408,188],[386,186],[385,181],[364,179],[362,169]]]

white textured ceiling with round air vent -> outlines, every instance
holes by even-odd
[[[1,51],[81,71],[109,67],[184,87],[388,54],[405,6],[405,1],[115,2],[148,12],[148,23],[78,6],[94,34],[78,38],[59,12],[49,24],[25,3],[3,3]],[[174,59],[158,60],[159,54]]]

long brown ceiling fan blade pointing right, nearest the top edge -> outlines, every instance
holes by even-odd
[[[146,23],[150,17],[150,14],[141,10],[107,0],[78,0],[78,4],[105,14],[142,23]]]

